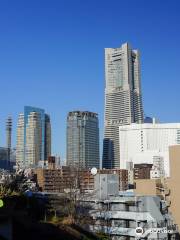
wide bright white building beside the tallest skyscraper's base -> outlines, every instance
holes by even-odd
[[[170,175],[169,146],[180,144],[180,123],[144,123],[119,127],[120,167],[127,162],[164,162],[165,176]]]

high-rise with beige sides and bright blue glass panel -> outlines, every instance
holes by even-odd
[[[51,155],[51,124],[45,111],[24,107],[17,126],[16,164],[21,168],[35,167]]]

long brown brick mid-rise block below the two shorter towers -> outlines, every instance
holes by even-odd
[[[56,169],[55,159],[49,158],[48,168],[38,168],[35,170],[37,182],[42,191],[63,193],[66,189],[79,188],[81,192],[95,190],[96,176],[90,170],[80,170],[61,166]],[[97,175],[102,178],[104,175],[117,175],[119,191],[128,189],[128,171],[125,169],[99,169]],[[78,184],[78,185],[77,185]]]

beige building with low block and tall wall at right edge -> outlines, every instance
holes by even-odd
[[[180,230],[180,145],[169,147],[170,178],[135,179],[134,192],[141,196],[156,195],[166,202]]]

